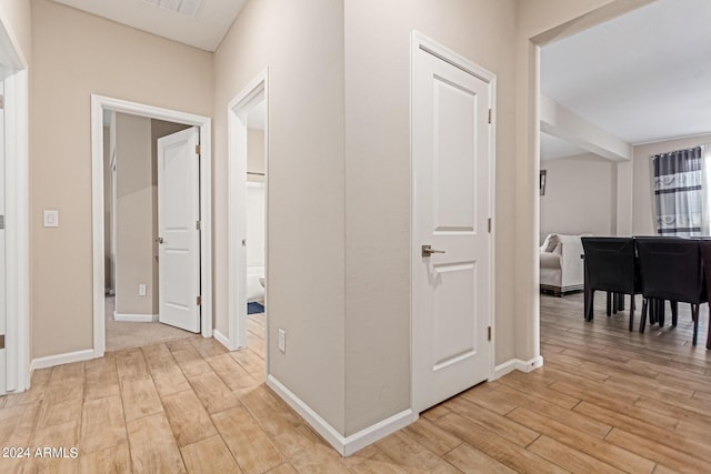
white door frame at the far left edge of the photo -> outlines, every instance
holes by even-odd
[[[0,8],[6,97],[6,390],[30,386],[30,224],[28,62]],[[8,160],[12,157],[12,160]]]

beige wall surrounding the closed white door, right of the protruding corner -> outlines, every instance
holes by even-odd
[[[410,406],[410,40],[497,74],[497,361],[514,354],[514,1],[346,1],[346,435]]]

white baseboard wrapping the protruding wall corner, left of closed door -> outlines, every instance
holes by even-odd
[[[350,456],[369,444],[372,444],[418,420],[418,414],[408,409],[347,437],[340,434],[301,399],[274,379],[273,375],[267,376],[267,385],[281,396],[289,406],[299,413],[299,415],[301,415],[301,417],[303,417],[311,427],[323,436],[323,438],[342,456]]]

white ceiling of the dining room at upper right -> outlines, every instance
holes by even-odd
[[[541,93],[630,144],[711,133],[711,1],[659,0],[544,47]]]

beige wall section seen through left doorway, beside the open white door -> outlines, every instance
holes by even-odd
[[[158,314],[153,285],[151,120],[116,114],[116,312]],[[138,286],[144,284],[146,296]],[[156,303],[153,304],[153,301]]]

